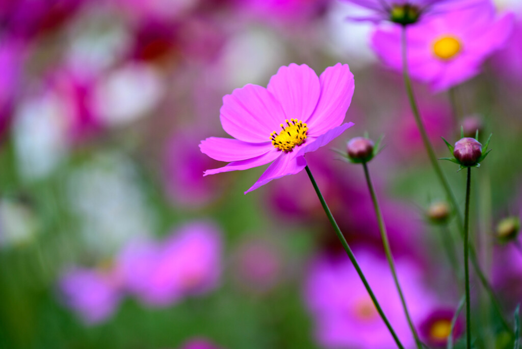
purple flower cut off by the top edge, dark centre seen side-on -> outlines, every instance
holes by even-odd
[[[351,20],[379,23],[392,21],[409,25],[421,18],[474,6],[482,0],[341,0],[371,10],[368,15]]]

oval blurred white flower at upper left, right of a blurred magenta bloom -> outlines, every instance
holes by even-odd
[[[123,126],[152,112],[163,94],[163,79],[156,69],[130,63],[101,77],[91,105],[105,124]]]

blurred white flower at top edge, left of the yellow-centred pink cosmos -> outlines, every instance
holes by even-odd
[[[355,22],[347,17],[362,16],[367,10],[345,2],[331,4],[326,21],[326,50],[346,62],[352,68],[363,68],[376,62],[370,48],[371,22]]]

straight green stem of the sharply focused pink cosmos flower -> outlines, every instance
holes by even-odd
[[[370,284],[366,280],[366,277],[364,276],[361,267],[359,266],[359,263],[355,259],[355,255],[353,254],[352,250],[350,249],[350,246],[348,246],[348,242],[346,242],[345,237],[342,235],[341,229],[337,225],[337,222],[335,222],[334,216],[331,214],[330,208],[328,208],[328,205],[326,204],[326,201],[323,197],[323,194],[321,193],[321,190],[319,190],[319,187],[317,186],[317,183],[315,182],[314,176],[312,176],[312,172],[310,171],[310,168],[308,166],[305,167],[306,173],[308,173],[308,176],[310,177],[310,181],[312,182],[312,185],[315,189],[315,192],[317,193],[317,197],[319,198],[319,201],[321,201],[321,205],[323,206],[323,210],[326,213],[326,216],[330,220],[331,226],[334,228],[337,237],[341,241],[341,245],[343,248],[345,248],[346,253],[348,254],[348,258],[350,258],[350,261],[352,262],[353,266],[355,267],[355,270],[357,271],[357,274],[359,274],[359,277],[361,278],[362,283],[364,284],[364,287],[366,288],[366,291],[370,295],[370,298],[372,298],[373,304],[375,308],[377,309],[377,312],[379,315],[381,315],[381,318],[383,319],[384,323],[386,324],[386,327],[392,334],[395,343],[397,344],[397,347],[400,349],[404,349],[404,346],[400,342],[397,334],[395,333],[394,329],[392,328],[392,325],[389,323],[388,319],[386,318],[386,315],[384,315],[383,309],[379,305],[377,298],[375,297],[372,288],[370,287]]]

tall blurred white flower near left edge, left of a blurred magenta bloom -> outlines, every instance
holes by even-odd
[[[22,101],[14,118],[18,169],[25,180],[49,176],[67,154],[67,103],[52,92]]]

